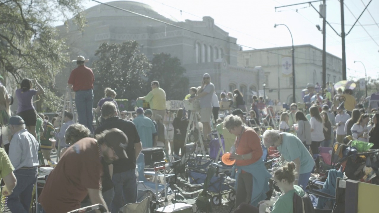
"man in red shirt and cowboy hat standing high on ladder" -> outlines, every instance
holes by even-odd
[[[67,85],[75,91],[75,105],[79,123],[85,125],[93,133],[92,107],[94,94],[92,89],[94,88],[95,77],[92,69],[85,65],[87,61],[88,59],[86,60],[81,55],[78,56],[77,60],[72,60],[72,62],[76,62],[78,67],[71,71]]]

